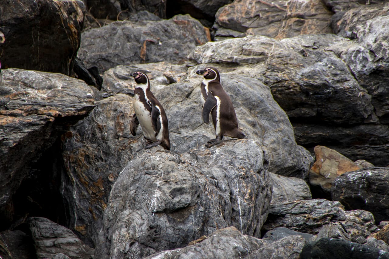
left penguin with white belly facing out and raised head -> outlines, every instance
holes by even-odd
[[[150,91],[149,78],[141,72],[130,75],[137,83],[133,100],[135,114],[130,123],[131,134],[136,135],[140,124],[143,137],[147,140],[145,149],[161,145],[164,149],[170,150],[168,119],[161,103]]]

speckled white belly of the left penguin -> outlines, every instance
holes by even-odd
[[[134,95],[133,105],[139,124],[142,127],[143,136],[156,142],[157,139],[155,137],[154,129],[152,128],[151,114],[139,100],[139,96],[137,94]]]

